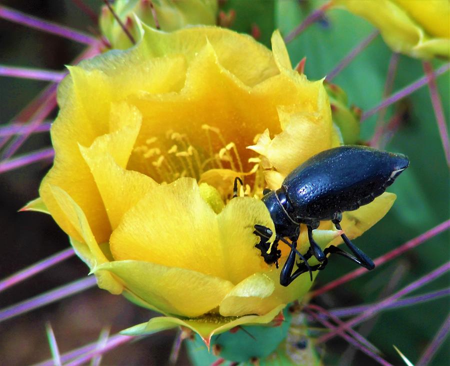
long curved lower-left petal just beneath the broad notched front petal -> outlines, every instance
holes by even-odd
[[[93,272],[97,270],[114,273],[144,301],[166,313],[182,316],[198,316],[212,310],[233,287],[218,277],[141,260],[103,263]]]

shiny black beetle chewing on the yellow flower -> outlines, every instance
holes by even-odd
[[[280,188],[265,189],[262,201],[269,210],[276,236],[267,253],[270,247],[268,239],[272,232],[268,227],[256,224],[254,233],[260,237],[260,241],[255,246],[261,250],[261,255],[269,264],[278,264],[281,254],[277,249],[279,240],[291,247],[280,272],[280,284],[287,286],[306,271],[309,271],[312,279],[311,271],[322,269],[326,265],[328,253],[345,256],[367,269],[373,269],[375,264],[370,257],[345,234],[340,236],[353,255],[334,245],[322,250],[314,241],[312,230],[323,220],[331,220],[341,230],[339,222],[342,212],[371,202],[393,183],[408,164],[408,158],[402,154],[365,146],[344,145],[324,150],[306,160],[285,177]],[[234,183],[236,194],[237,181]],[[310,244],[303,255],[296,249],[300,223],[306,224]],[[299,255],[302,262],[297,263],[298,268],[292,273],[295,254]],[[320,264],[309,266],[307,259],[312,255]]]

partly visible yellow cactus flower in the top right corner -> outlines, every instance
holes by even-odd
[[[395,52],[450,57],[448,0],[332,0],[376,26]]]

